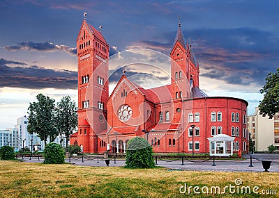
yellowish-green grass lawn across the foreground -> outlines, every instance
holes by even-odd
[[[266,172],[174,171],[163,167],[131,170],[123,167],[84,167],[0,161],[1,197],[192,197],[179,188],[212,185],[224,188],[242,179],[243,186],[259,186],[279,194],[279,174]],[[241,185],[240,185],[241,186]],[[260,195],[198,195],[197,197],[260,197]],[[266,197],[276,197],[268,195]]]

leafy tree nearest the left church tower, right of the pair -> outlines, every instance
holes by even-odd
[[[56,106],[56,129],[60,135],[62,146],[63,135],[66,136],[66,147],[70,134],[77,128],[77,106],[70,96],[63,97]]]

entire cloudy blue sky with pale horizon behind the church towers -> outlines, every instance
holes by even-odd
[[[259,89],[266,74],[279,67],[278,8],[277,0],[2,0],[0,129],[27,115],[38,93],[56,101],[66,94],[77,100],[75,40],[84,12],[89,24],[103,26],[111,55],[152,49],[155,55],[142,53],[149,60],[159,52],[169,55],[180,15],[183,34],[199,60],[200,88],[209,96],[246,99],[252,114],[262,99]]]

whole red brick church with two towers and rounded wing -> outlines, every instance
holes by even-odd
[[[169,54],[169,85],[144,89],[124,71],[109,96],[109,51],[101,31],[84,17],[77,36],[78,131],[70,145],[85,153],[125,153],[128,140],[141,136],[157,153],[248,151],[248,102],[199,89],[199,63],[180,23]]]

